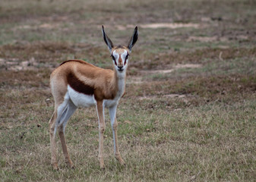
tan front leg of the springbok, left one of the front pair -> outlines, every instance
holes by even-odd
[[[104,160],[103,160],[103,136],[105,131],[105,119],[104,119],[104,108],[103,108],[103,102],[97,101],[96,103],[96,109],[97,114],[99,118],[99,134],[100,134],[100,140],[99,140],[99,162],[100,162],[100,168],[103,169],[104,167]]]

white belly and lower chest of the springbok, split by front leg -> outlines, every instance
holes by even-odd
[[[84,93],[78,93],[74,89],[71,88],[71,86],[68,86],[68,95],[71,99],[71,101],[74,103],[77,107],[92,107],[96,105],[96,100],[94,98],[94,95],[86,95]],[[113,105],[118,104],[119,98],[112,99],[112,100],[103,100],[103,106],[106,108],[109,108]]]

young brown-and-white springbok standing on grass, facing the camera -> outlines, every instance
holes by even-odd
[[[113,71],[93,66],[81,60],[64,61],[52,72],[50,86],[52,96],[55,101],[55,111],[49,121],[50,142],[52,160],[54,169],[58,169],[56,159],[55,133],[58,129],[58,135],[62,143],[62,150],[65,156],[65,162],[69,167],[74,165],[68,155],[68,149],[65,142],[65,127],[68,119],[74,114],[77,107],[90,107],[96,105],[96,112],[99,119],[99,161],[100,168],[104,168],[103,162],[103,133],[105,130],[104,108],[109,108],[109,115],[114,140],[115,158],[121,165],[125,162],[121,158],[117,140],[117,121],[116,108],[119,99],[125,93],[126,69],[128,67],[128,57],[132,47],[137,41],[138,30],[134,29],[127,46],[114,46],[112,41],[106,35],[102,27],[104,41],[109,48],[112,57]]]

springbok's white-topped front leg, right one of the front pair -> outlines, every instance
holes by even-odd
[[[113,106],[112,108],[109,108],[109,115],[111,120],[111,127],[112,127],[112,133],[113,133],[113,140],[114,140],[114,152],[115,152],[115,158],[119,161],[121,165],[125,165],[124,160],[121,158],[120,152],[119,152],[119,144],[117,139],[117,126],[118,123],[116,121],[116,107],[117,105]]]

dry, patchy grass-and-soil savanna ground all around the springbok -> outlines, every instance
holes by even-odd
[[[1,181],[255,181],[256,2],[1,0]],[[95,108],[66,129],[75,169],[50,165],[49,75],[79,58],[111,68],[100,26],[114,43],[140,30],[119,103],[113,155],[106,111],[97,160]]]

